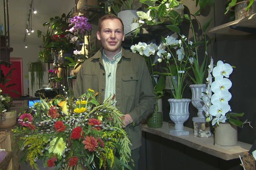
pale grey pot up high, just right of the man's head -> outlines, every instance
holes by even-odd
[[[121,18],[124,24],[124,34],[131,31],[131,23],[134,18],[139,18],[136,10],[120,11],[117,16]]]

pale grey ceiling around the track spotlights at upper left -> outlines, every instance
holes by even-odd
[[[29,16],[31,0],[9,0],[10,44],[25,44],[26,22]],[[32,29],[34,33],[26,35],[26,44],[40,45],[42,39],[37,37],[37,30],[46,31],[42,24],[51,17],[67,14],[75,6],[75,0],[34,0],[37,14],[32,13]],[[1,13],[3,11],[1,7]],[[3,23],[3,14],[1,14]]]

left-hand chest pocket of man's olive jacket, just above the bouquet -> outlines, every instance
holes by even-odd
[[[91,74],[83,75],[83,91],[87,91],[88,88],[98,91],[98,76]]]

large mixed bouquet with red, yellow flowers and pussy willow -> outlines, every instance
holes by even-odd
[[[100,104],[98,93],[88,89],[73,100],[63,91],[65,96],[41,99],[19,117],[13,132],[20,136],[22,158],[36,169],[38,159],[58,170],[130,169],[131,142],[114,99]]]

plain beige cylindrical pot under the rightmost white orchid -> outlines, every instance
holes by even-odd
[[[232,146],[237,144],[237,126],[220,123],[215,127],[215,144]]]

